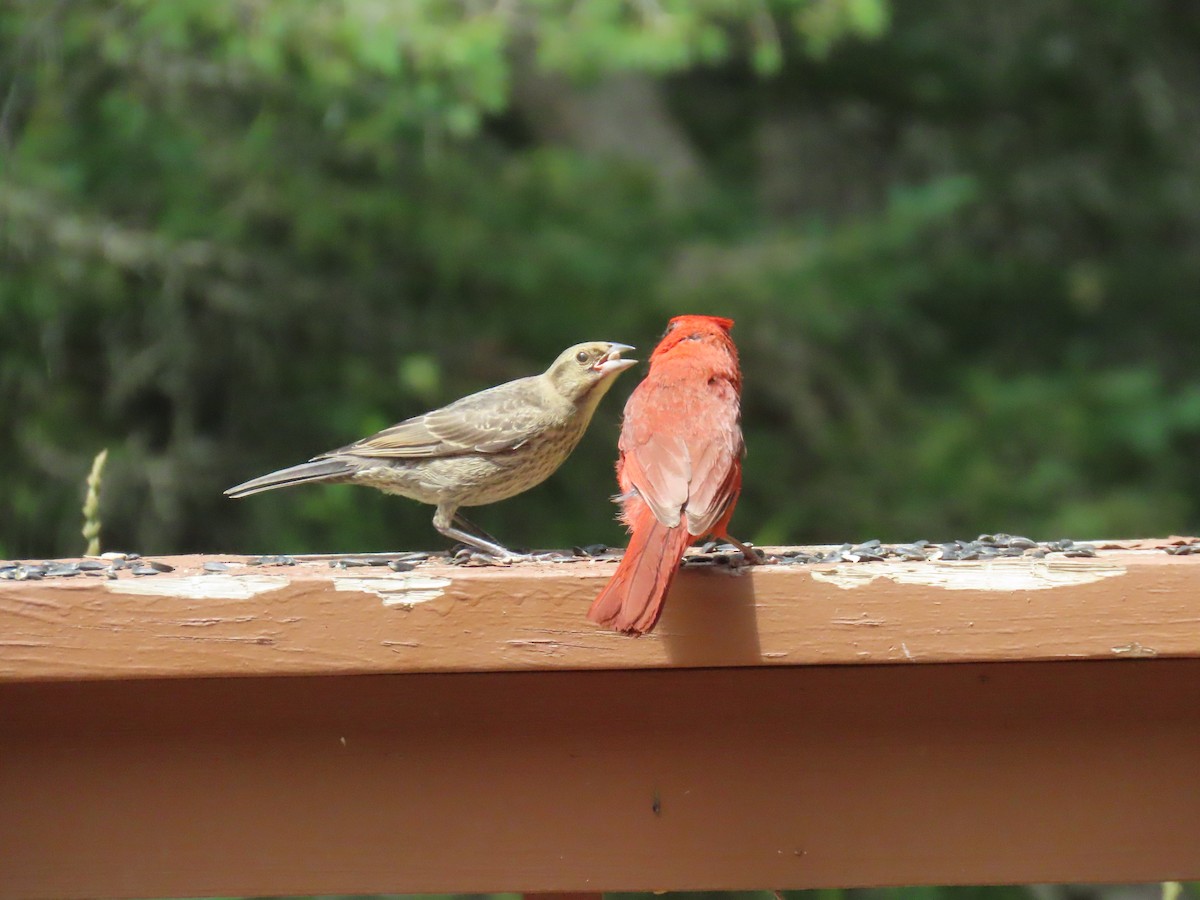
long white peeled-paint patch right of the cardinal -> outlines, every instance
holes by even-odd
[[[1126,568],[1099,559],[988,559],[984,562],[848,563],[814,569],[814,581],[850,590],[888,578],[944,590],[1049,590],[1091,584],[1124,575]]]

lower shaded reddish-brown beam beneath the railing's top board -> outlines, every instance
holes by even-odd
[[[1200,660],[0,684],[0,898],[1200,877]]]

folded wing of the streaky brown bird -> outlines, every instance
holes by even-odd
[[[428,458],[516,450],[551,419],[536,377],[488,388],[407,419],[328,456]]]

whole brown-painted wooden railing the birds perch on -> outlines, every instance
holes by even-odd
[[[0,566],[0,896],[1200,877],[1152,541],[690,566],[637,640],[611,560],[245,560]]]

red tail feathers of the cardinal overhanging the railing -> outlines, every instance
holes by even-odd
[[[694,540],[686,520],[680,520],[674,527],[665,526],[642,506],[620,565],[588,610],[592,622],[626,635],[644,635],[654,628],[679,560]]]

